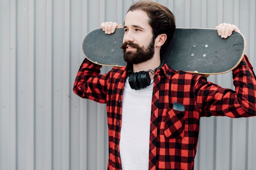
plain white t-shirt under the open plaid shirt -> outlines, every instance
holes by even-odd
[[[152,93],[153,83],[135,91],[126,79],[119,144],[122,170],[148,170]]]

